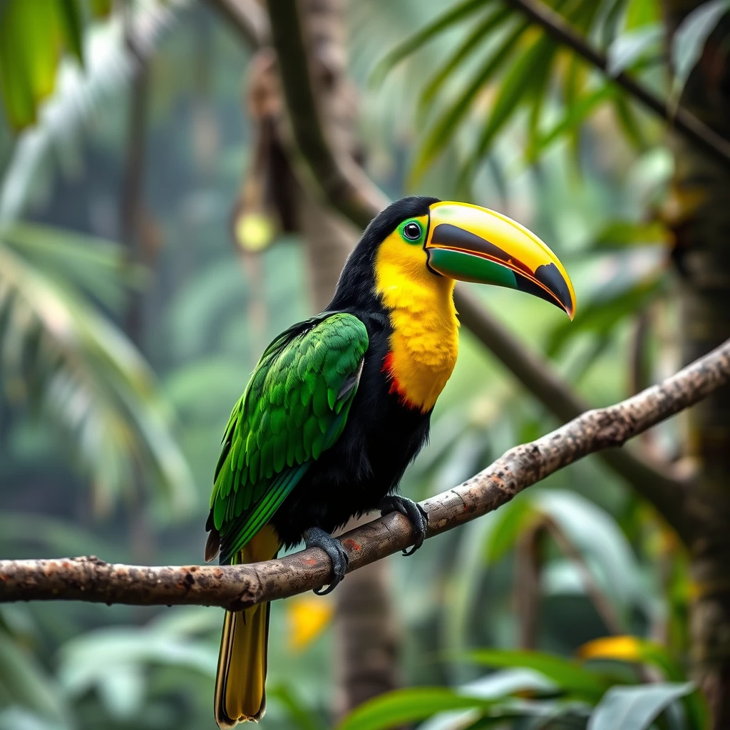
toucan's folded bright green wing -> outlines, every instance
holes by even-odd
[[[337,441],[368,347],[364,324],[338,312],[272,342],[228,420],[215,469],[209,529],[227,563]]]

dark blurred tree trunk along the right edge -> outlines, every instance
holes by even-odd
[[[664,0],[669,35],[703,0]],[[710,36],[688,80],[682,104],[730,139],[730,19]],[[683,358],[701,356],[730,337],[730,174],[696,147],[678,142],[672,227],[683,280]],[[713,727],[730,727],[730,388],[690,415],[699,479],[689,508],[703,525],[691,543],[695,596],[691,650],[707,693]]]

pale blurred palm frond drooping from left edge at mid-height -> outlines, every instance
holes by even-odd
[[[191,507],[188,464],[137,349],[72,288],[1,242],[0,368],[9,398],[30,399],[72,439],[100,511],[134,484],[135,464],[174,511]]]

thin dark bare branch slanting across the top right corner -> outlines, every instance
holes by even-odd
[[[558,43],[566,45],[575,51],[591,66],[601,69],[612,81],[621,86],[634,99],[640,101],[649,110],[668,122],[674,130],[683,137],[700,147],[710,155],[716,155],[720,160],[730,165],[730,142],[699,120],[692,112],[677,107],[676,109],[656,96],[648,88],[631,78],[629,74],[621,72],[609,74],[608,60],[605,55],[591,48],[585,39],[580,36],[566,20],[539,0],[507,0],[512,7],[517,8],[533,23],[540,26]]]

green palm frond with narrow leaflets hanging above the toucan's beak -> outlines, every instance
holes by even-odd
[[[656,61],[656,0],[639,3],[651,6],[642,9],[625,0],[551,0],[548,4],[588,42],[602,38],[616,69],[640,71],[648,66],[651,54]],[[385,55],[374,77],[379,78],[426,43],[443,45],[446,32],[455,28],[461,29],[461,39],[453,42],[453,49],[420,93],[418,118],[423,120],[434,110],[438,115],[420,139],[411,180],[420,178],[450,148],[461,127],[468,127],[476,130],[470,132],[471,142],[462,155],[466,164],[460,179],[462,185],[468,185],[491,154],[496,137],[512,127],[512,120],[522,118],[520,112],[526,112],[526,127],[520,126],[520,130],[526,132],[528,161],[559,139],[572,137],[577,142],[580,128],[606,102],[614,105],[617,123],[631,142],[645,143],[644,120],[637,118],[620,88],[614,88],[610,79],[589,69],[583,59],[561,48],[544,31],[532,29],[517,8],[499,0],[473,0],[450,8]],[[474,64],[475,56],[484,51],[486,58]],[[445,93],[447,82],[464,75],[465,67],[469,71],[464,90],[456,96]],[[491,101],[486,113],[481,103],[484,98]],[[553,123],[546,131],[544,118],[548,116]]]

